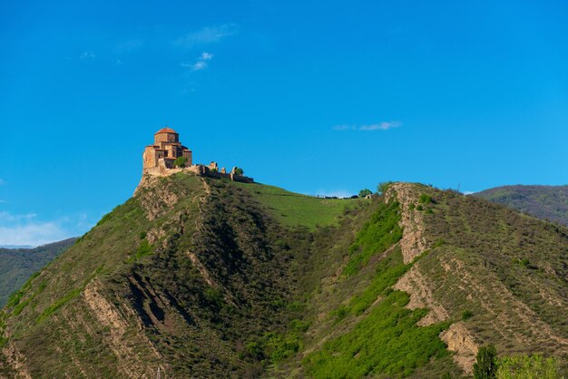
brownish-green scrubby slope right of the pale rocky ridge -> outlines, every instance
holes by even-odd
[[[455,320],[473,315],[464,324],[479,345],[566,357],[568,228],[483,199],[421,191],[433,199],[424,206],[427,238],[444,241],[418,263],[436,283],[436,300]]]

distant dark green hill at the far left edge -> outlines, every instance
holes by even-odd
[[[8,296],[22,287],[29,277],[73,245],[75,239],[38,248],[0,248],[0,306],[4,306]]]

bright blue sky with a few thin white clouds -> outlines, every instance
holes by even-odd
[[[568,182],[565,2],[276,3],[3,1],[0,245],[87,231],[166,124],[308,194]]]

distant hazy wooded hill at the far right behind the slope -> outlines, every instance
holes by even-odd
[[[473,196],[568,225],[568,186],[504,186],[476,192]]]

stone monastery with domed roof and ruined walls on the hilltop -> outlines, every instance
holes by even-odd
[[[229,173],[212,161],[209,165],[193,164],[191,150],[180,142],[180,134],[170,128],[154,133],[154,143],[146,146],[142,153],[142,179],[144,176],[170,176],[177,172],[193,172],[202,176],[228,178],[233,181],[251,183],[254,180],[237,173],[234,167]]]

